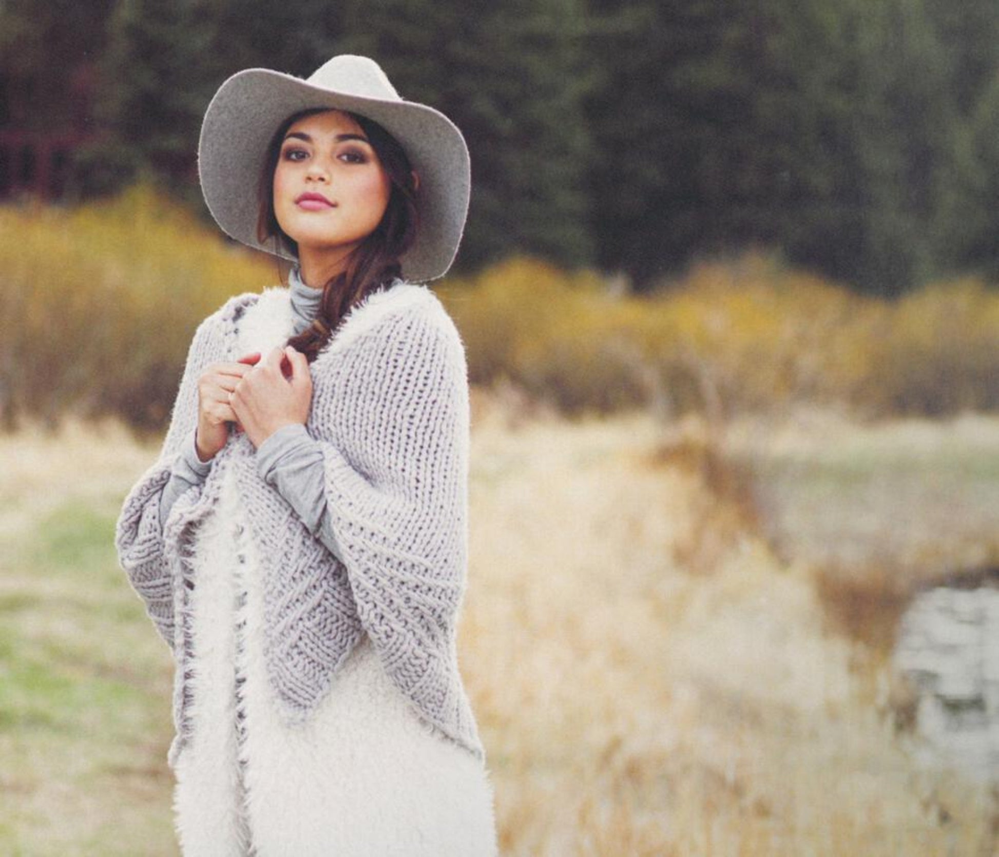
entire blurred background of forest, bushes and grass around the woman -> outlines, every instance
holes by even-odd
[[[244,68],[464,131],[460,651],[509,855],[999,854],[999,6],[0,2],[0,852],[172,855],[117,566]]]

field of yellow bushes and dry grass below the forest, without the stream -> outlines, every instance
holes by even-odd
[[[0,278],[0,853],[176,854],[171,664],[114,521],[195,327],[278,272],[137,188],[0,209]],[[755,256],[438,292],[503,855],[999,854],[999,790],[916,762],[888,657],[918,586],[999,564],[999,293]]]

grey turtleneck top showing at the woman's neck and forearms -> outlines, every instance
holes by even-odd
[[[321,289],[302,282],[299,269],[288,277],[292,300],[295,335],[301,334],[319,311]],[[284,426],[257,448],[257,467],[261,477],[273,485],[298,513],[309,530],[338,553],[326,508],[323,479],[323,452],[305,426]],[[197,430],[184,445],[174,464],[170,479],[160,497],[160,522],[165,523],[176,499],[193,485],[201,484],[212,469],[212,461],[198,457]],[[339,555],[339,554],[338,554]]]

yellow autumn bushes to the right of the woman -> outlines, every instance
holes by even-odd
[[[504,377],[567,413],[999,408],[999,292],[978,281],[888,302],[748,255],[614,296],[592,275],[512,260],[445,298],[474,381]]]

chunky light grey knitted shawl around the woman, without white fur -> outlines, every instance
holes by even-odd
[[[432,729],[485,757],[462,684],[456,621],[468,549],[469,401],[465,351],[423,286],[397,282],[345,320],[312,364],[307,428],[320,443],[335,557],[259,475],[256,450],[233,434],[203,485],[161,529],[160,491],[197,425],[197,379],[233,361],[237,327],[259,295],[229,301],[199,327],[163,450],[125,500],[122,567],[177,660],[176,753],[188,738],[187,611],[199,525],[217,509],[221,470],[244,498],[266,591],[268,673],[288,721],[309,716],[363,631],[386,672]]]

